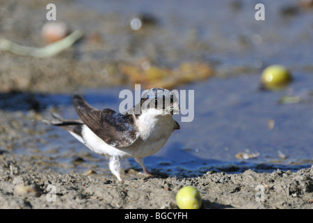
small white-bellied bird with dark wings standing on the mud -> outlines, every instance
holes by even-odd
[[[111,173],[123,181],[120,162],[133,157],[146,176],[152,176],[143,157],[157,153],[180,126],[172,115],[179,114],[179,102],[168,89],[153,88],[142,93],[141,101],[127,110],[115,112],[91,107],[81,95],[72,98],[79,119],[65,119],[51,114],[54,119],[43,121],[67,130],[90,151],[105,155]]]

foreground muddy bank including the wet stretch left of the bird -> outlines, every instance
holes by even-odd
[[[175,194],[186,185],[198,188],[202,208],[313,205],[313,167],[272,173],[208,171],[195,178],[162,174],[161,166],[159,172],[152,172],[154,178],[145,178],[141,169],[128,168],[122,170],[125,182],[121,183],[108,168],[99,168],[97,164],[105,160],[87,149],[79,152],[63,145],[41,151],[37,145],[47,144],[42,134],[49,134],[51,127],[42,123],[37,112],[0,114],[0,208],[177,208]],[[62,140],[63,136],[50,137]],[[23,145],[24,153],[15,152]]]

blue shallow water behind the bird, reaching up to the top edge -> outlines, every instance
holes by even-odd
[[[73,2],[86,7],[84,1]],[[265,21],[255,20],[257,3],[266,6]],[[90,9],[116,19],[111,25],[115,28],[108,29],[118,31],[104,36],[109,53],[101,55],[123,60],[123,50],[128,47],[135,58],[151,57],[162,66],[204,61],[213,64],[216,70],[217,77],[177,87],[194,91],[194,119],[182,123],[182,115],[175,116],[181,129],[173,132],[161,151],[145,158],[152,173],[198,176],[209,170],[297,170],[312,165],[313,11],[295,4],[203,0],[179,1],[178,7],[177,1],[168,0],[88,2]],[[287,13],[293,7],[298,10]],[[143,14],[154,21],[144,24],[144,34],[129,36],[131,17]],[[86,24],[90,23],[86,17]],[[282,91],[261,91],[260,73],[274,63],[287,66],[294,82]],[[122,89],[129,86],[80,92],[90,105],[117,111]],[[279,103],[285,95],[300,101]],[[50,110],[56,109],[66,118],[77,118],[69,94],[2,93],[0,107],[10,112],[35,109],[43,118],[49,118]],[[25,125],[42,133],[24,134],[14,146],[16,153],[51,157],[47,162],[63,164],[58,166],[61,172],[108,169],[104,157],[89,153],[88,148],[64,130],[39,122]],[[259,156],[249,160],[236,158],[247,150]],[[123,162],[123,167],[140,169],[132,159]]]

